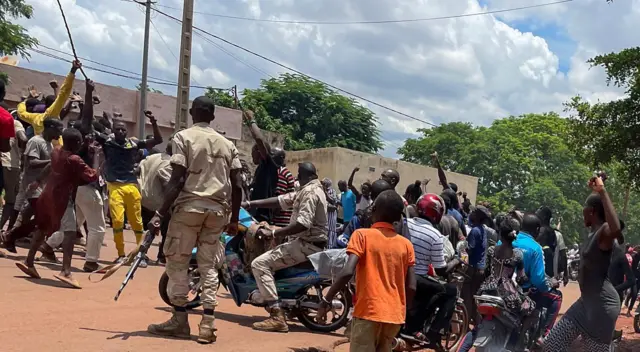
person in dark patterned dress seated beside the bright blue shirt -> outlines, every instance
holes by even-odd
[[[487,250],[489,276],[480,285],[477,294],[501,297],[511,312],[524,318],[533,312],[535,303],[511,279],[515,273],[517,283],[527,281],[524,271],[524,253],[521,249],[513,246],[520,224],[510,216],[501,217],[499,221],[498,231],[501,244],[491,246]],[[465,335],[457,352],[471,350],[477,336],[477,326]]]

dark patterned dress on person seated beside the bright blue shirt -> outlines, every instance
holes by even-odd
[[[480,285],[479,293],[497,294],[502,297],[507,308],[528,315],[535,309],[535,303],[524,295],[522,289],[511,278],[516,274],[518,281],[526,281],[521,250],[514,248],[513,256],[506,259],[495,258],[496,247],[487,250],[489,277]]]

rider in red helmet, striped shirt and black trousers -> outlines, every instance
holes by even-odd
[[[456,258],[445,261],[445,247],[453,246],[449,239],[443,236],[436,225],[440,223],[445,212],[444,201],[436,194],[425,194],[415,204],[417,217],[407,220],[411,243],[416,255],[417,294],[411,307],[408,307],[405,334],[418,340],[429,340],[439,345],[442,339],[440,331],[447,330],[453,316],[457,300],[455,285],[441,284],[430,277],[429,267],[435,269],[439,276],[446,276],[460,261]],[[450,259],[450,258],[448,258]],[[422,334],[425,321],[435,307],[440,307],[438,314],[431,324],[427,336]]]

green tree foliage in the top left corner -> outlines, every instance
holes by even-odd
[[[31,18],[33,8],[24,0],[0,0],[0,55],[29,57],[29,48],[38,40],[29,36],[21,25],[11,23],[14,18]]]

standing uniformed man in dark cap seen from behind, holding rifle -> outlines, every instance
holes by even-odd
[[[212,99],[202,96],[193,101],[189,110],[193,126],[173,137],[171,177],[162,206],[148,225],[157,233],[162,220],[173,209],[164,255],[167,261],[165,270],[169,276],[169,299],[174,310],[168,321],[149,325],[147,331],[156,335],[190,338],[186,310],[189,293],[187,270],[191,251],[197,247],[204,308],[199,343],[212,343],[217,339],[213,314],[218,304],[217,265],[224,255],[220,251],[220,235],[225,226],[229,235],[238,233],[242,202],[242,164],[238,150],[231,141],[211,128],[214,112]]]

